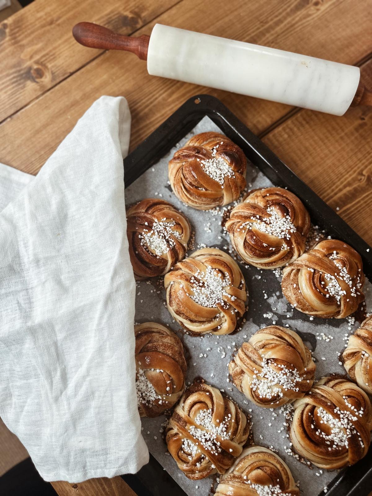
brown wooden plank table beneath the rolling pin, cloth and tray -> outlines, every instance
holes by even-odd
[[[36,174],[103,94],[128,100],[132,150],[188,97],[210,93],[372,244],[371,108],[334,117],[161,79],[131,54],[71,36],[83,20],[136,35],[159,22],[359,65],[371,85],[371,15],[372,0],[35,0],[0,22],[0,162]],[[53,486],[60,495],[131,494],[120,478]]]

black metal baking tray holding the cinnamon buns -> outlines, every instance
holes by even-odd
[[[187,100],[124,159],[125,187],[159,161],[201,119],[208,116],[224,134],[238,144],[248,160],[276,186],[293,191],[309,210],[311,221],[336,238],[348,243],[362,256],[366,276],[372,279],[372,249],[309,186],[298,178],[225,105],[211,95]],[[369,251],[367,251],[369,250]],[[124,475],[125,482],[138,496],[186,496],[186,493],[150,454],[150,462],[136,475]],[[372,491],[372,446],[360,462],[339,472],[328,484],[327,496],[367,496]],[[322,492],[319,496],[324,495]],[[316,496],[316,495],[314,495]]]

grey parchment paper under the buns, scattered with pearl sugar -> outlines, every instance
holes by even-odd
[[[126,203],[130,205],[143,198],[161,196],[187,215],[195,231],[194,249],[205,246],[215,247],[235,256],[229,236],[224,233],[221,227],[221,211],[204,212],[186,206],[177,199],[168,181],[168,162],[176,149],[183,146],[191,135],[210,130],[222,132],[208,117],[204,117],[168,155],[148,169],[126,189]],[[273,185],[248,161],[247,189],[267,186]],[[188,253],[192,251],[194,250],[190,249]],[[316,467],[310,469],[309,466],[288,454],[290,440],[285,425],[288,423],[285,413],[280,411],[280,408],[268,410],[248,402],[244,394],[239,392],[232,382],[229,382],[227,366],[232,353],[236,352],[244,341],[248,341],[257,329],[275,322],[283,327],[289,324],[289,327],[297,331],[305,344],[313,351],[316,362],[316,379],[332,372],[344,374],[346,372],[339,364],[338,353],[342,353],[347,343],[347,337],[357,329],[358,322],[350,325],[350,319],[314,317],[313,320],[310,320],[310,316],[291,308],[281,291],[281,277],[277,276],[273,270],[257,269],[246,266],[243,262],[240,263],[240,267],[246,280],[249,297],[247,321],[239,332],[218,337],[210,334],[205,334],[203,337],[191,337],[184,334],[167,310],[163,278],[153,278],[137,284],[136,322],[153,320],[169,324],[170,328],[181,337],[186,350],[189,352],[186,384],[191,383],[194,377],[202,376],[207,383],[224,389],[229,397],[232,397],[246,413],[251,415],[254,443],[273,447],[277,450],[291,469],[295,481],[299,481],[302,494],[315,496],[326,487],[337,472],[321,471]],[[367,310],[371,311],[372,291],[369,281],[366,282],[364,292]],[[143,436],[150,452],[187,495],[209,495],[214,479],[209,477],[201,481],[190,481],[179,470],[176,462],[167,452],[164,440],[166,424],[167,417],[165,415],[155,419],[142,419]]]

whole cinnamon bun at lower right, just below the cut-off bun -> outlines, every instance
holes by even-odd
[[[354,382],[323,377],[294,407],[293,447],[317,467],[332,470],[353,465],[367,454],[371,403]]]

